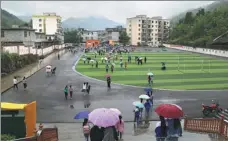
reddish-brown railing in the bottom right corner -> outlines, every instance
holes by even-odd
[[[184,130],[216,133],[228,139],[228,122],[222,119],[189,119],[184,120]]]

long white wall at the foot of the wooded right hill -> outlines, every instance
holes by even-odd
[[[178,50],[202,53],[207,55],[214,55],[220,57],[228,57],[228,51],[224,50],[216,50],[216,49],[208,49],[208,48],[193,48],[190,46],[182,46],[182,45],[172,45],[172,44],[163,44],[167,48],[173,48]]]

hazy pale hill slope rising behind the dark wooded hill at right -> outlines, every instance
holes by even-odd
[[[228,6],[228,1],[216,1],[216,2],[213,2],[212,4],[207,5],[206,7],[200,7],[197,9],[190,9],[186,12],[180,13],[179,15],[172,17],[171,21],[170,21],[171,25],[174,26],[175,24],[177,24],[180,19],[185,17],[187,12],[192,12],[195,15],[202,8],[207,12],[207,11],[213,11],[217,7],[224,6],[224,5]]]

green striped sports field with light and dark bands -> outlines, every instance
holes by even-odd
[[[87,57],[94,59],[93,53],[87,53]],[[205,55],[177,52],[154,51],[132,52],[132,61],[127,70],[120,67],[120,60],[115,61],[112,82],[134,86],[148,87],[147,73],[154,74],[153,88],[159,89],[228,89],[228,60],[209,57]],[[123,62],[127,61],[128,54],[122,54]],[[135,56],[147,57],[147,63],[143,65],[135,63]],[[105,63],[97,55],[98,68],[92,68],[91,64],[84,64],[80,59],[76,70],[84,75],[100,80],[106,80]],[[112,61],[111,61],[112,62]],[[166,63],[166,70],[161,70],[161,62]],[[124,65],[123,65],[124,67]],[[110,69],[109,69],[110,71]]]

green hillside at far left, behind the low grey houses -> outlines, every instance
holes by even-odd
[[[20,20],[17,16],[1,9],[1,26],[4,28],[10,28],[12,25],[23,25],[25,22]]]

